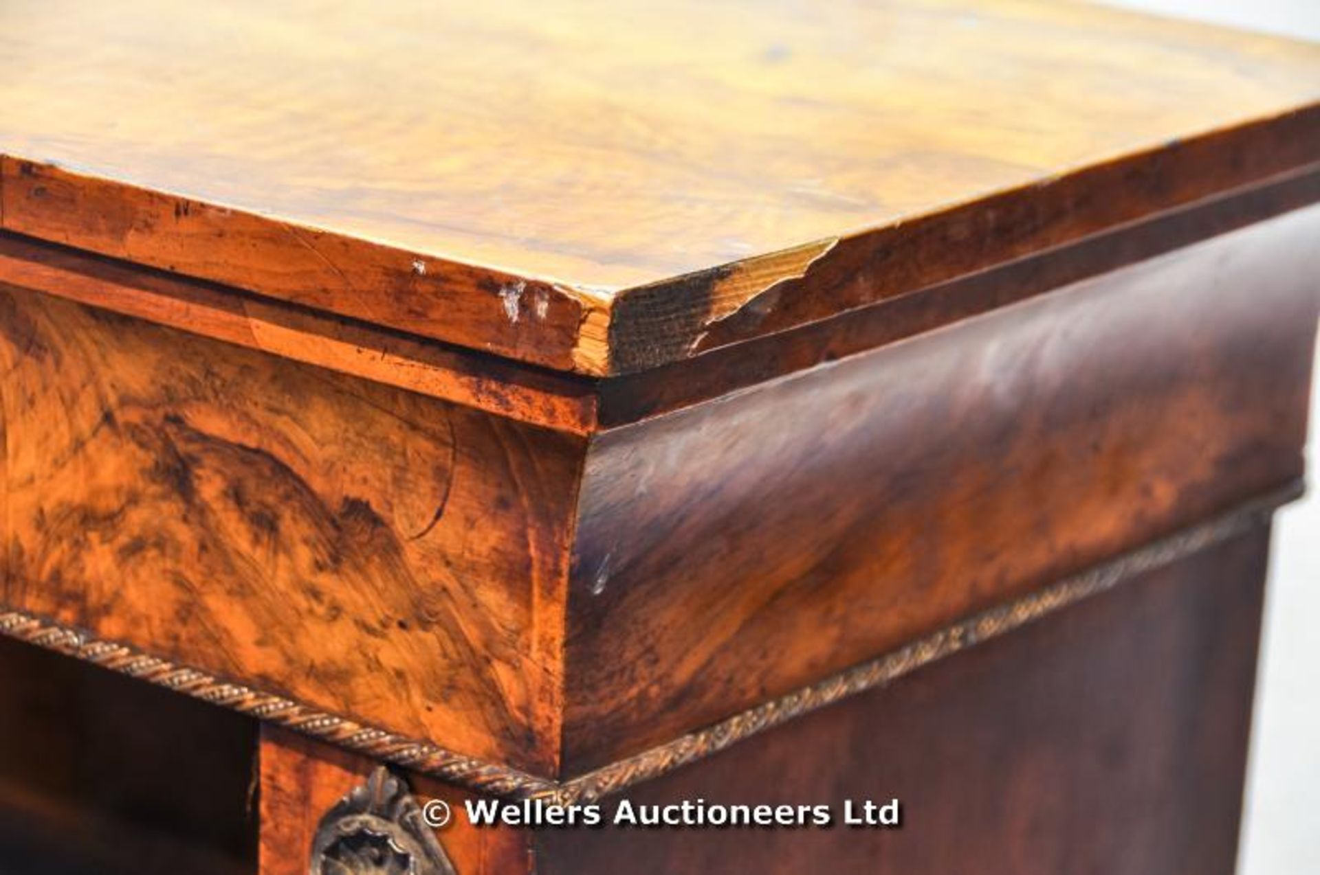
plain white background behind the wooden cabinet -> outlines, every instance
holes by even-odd
[[[1109,3],[1320,42],[1320,0]],[[1312,465],[1320,465],[1317,407],[1320,380],[1312,382],[1307,453]],[[1317,478],[1320,468],[1312,468],[1312,489],[1320,492]],[[1274,530],[1238,868],[1239,875],[1320,874],[1320,499],[1315,493],[1284,509]]]

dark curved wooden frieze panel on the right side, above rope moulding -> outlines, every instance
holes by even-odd
[[[1320,210],[606,432],[572,776],[1302,474]]]

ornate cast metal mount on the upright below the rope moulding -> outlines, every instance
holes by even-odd
[[[326,812],[310,875],[455,875],[401,777],[384,766]]]

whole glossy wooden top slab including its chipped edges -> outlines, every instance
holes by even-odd
[[[1316,47],[1071,3],[16,0],[0,34],[5,229],[594,374],[1320,161]]]

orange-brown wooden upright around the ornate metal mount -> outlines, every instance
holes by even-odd
[[[259,875],[306,875],[312,837],[321,817],[376,763],[293,733],[264,727],[260,751],[261,835]],[[531,835],[504,828],[478,829],[457,813],[470,795],[424,776],[409,776],[418,803],[446,801],[454,813],[436,835],[459,875],[532,872]]]

